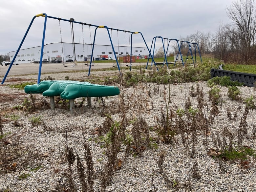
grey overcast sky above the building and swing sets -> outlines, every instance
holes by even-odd
[[[109,28],[141,32],[148,46],[152,38],[180,39],[196,31],[215,33],[221,22],[228,23],[226,7],[232,0],[1,0],[0,54],[18,49],[33,18],[39,13]],[[35,18],[21,49],[40,46],[44,17]],[[61,21],[63,42],[72,42],[69,22]],[[91,27],[93,41],[95,28]],[[84,33],[84,35],[82,34]],[[129,46],[129,34],[113,31],[114,45]],[[74,24],[75,43],[90,43],[88,26]],[[60,42],[59,21],[48,18],[45,44]],[[133,45],[143,46],[139,34]],[[97,29],[96,44],[109,44],[105,29]],[[145,47],[145,46],[143,46]]]

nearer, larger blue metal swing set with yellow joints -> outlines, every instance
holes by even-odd
[[[131,31],[126,31],[126,30],[119,30],[119,29],[114,29],[114,28],[108,28],[107,26],[99,26],[99,25],[93,25],[93,24],[88,24],[88,23],[83,23],[83,22],[77,22],[75,21],[74,19],[62,19],[62,18],[58,18],[58,17],[53,17],[53,16],[48,16],[46,13],[41,13],[41,14],[37,14],[35,15],[33,18],[32,18],[32,21],[30,22],[30,25],[27,29],[27,31],[25,32],[25,35],[15,53],[15,55],[13,56],[13,59],[11,61],[11,64],[1,82],[1,84],[3,84],[5,82],[5,79],[7,77],[7,75],[9,74],[10,70],[11,70],[11,67],[13,65],[13,62],[15,61],[15,58],[17,57],[19,51],[20,51],[20,48],[24,42],[24,40],[26,39],[26,36],[33,24],[33,21],[36,17],[45,17],[44,19],[44,28],[43,28],[43,37],[42,37],[42,45],[41,45],[41,53],[40,53],[40,61],[39,61],[39,69],[38,69],[38,78],[37,78],[37,84],[40,83],[40,77],[41,77],[41,69],[42,69],[42,59],[43,59],[43,52],[44,52],[44,40],[45,40],[45,31],[46,31],[46,23],[47,23],[47,18],[52,18],[52,19],[57,19],[59,20],[59,28],[60,28],[60,40],[61,40],[61,49],[62,49],[62,58],[63,58],[63,66],[64,67],[74,67],[76,65],[76,61],[74,61],[74,64],[72,66],[68,66],[67,64],[65,64],[64,62],[64,53],[63,53],[63,42],[62,42],[62,33],[61,33],[61,25],[60,25],[60,21],[67,21],[67,22],[70,22],[70,28],[71,28],[71,33],[73,32],[73,23],[77,23],[77,24],[81,24],[82,25],[82,34],[83,34],[83,53],[84,53],[84,29],[83,29],[83,25],[88,25],[89,26],[89,30],[90,30],[90,39],[91,39],[91,48],[92,48],[92,53],[91,53],[91,59],[90,59],[90,65],[89,65],[89,72],[88,72],[88,76],[90,75],[90,71],[91,71],[91,67],[94,65],[94,63],[92,62],[93,61],[93,52],[94,52],[94,46],[95,46],[95,39],[96,39],[96,32],[97,32],[97,29],[106,29],[107,32],[108,32],[108,36],[109,36],[109,39],[110,39],[110,43],[111,43],[111,46],[112,46],[112,54],[114,54],[115,56],[115,59],[116,59],[116,65],[114,65],[114,60],[113,60],[113,67],[117,67],[118,70],[119,70],[119,73],[121,74],[120,72],[120,66],[119,66],[119,63],[118,63],[118,60],[117,60],[117,55],[116,55],[116,52],[115,52],[115,48],[114,48],[114,45],[113,45],[113,38],[112,38],[112,31],[117,31],[117,43],[118,43],[118,54],[119,54],[119,39],[118,39],[118,32],[125,32],[125,42],[127,44],[127,41],[126,41],[126,33],[128,32],[129,33],[129,46],[131,46],[131,53],[132,53],[132,35],[133,34],[141,34],[142,36],[142,39],[149,51],[149,48],[146,44],[146,41],[142,35],[141,32],[131,32]],[[96,27],[95,28],[95,32],[94,32],[94,40],[93,40],[93,43],[92,43],[92,37],[91,37],[91,26],[93,27]],[[111,34],[109,32],[109,29],[111,30]],[[130,33],[131,33],[131,43],[130,43]],[[73,36],[71,35],[72,37],[72,42],[74,42],[74,33],[73,33]],[[127,45],[126,45],[126,49],[127,49]],[[132,56],[132,54],[130,53],[130,55]],[[150,51],[149,51],[150,53]],[[74,54],[74,57],[75,57],[75,42],[73,43],[73,54]],[[150,53],[151,55],[151,53]],[[119,55],[118,55],[119,56]],[[152,56],[152,55],[151,55]],[[112,57],[113,58],[113,57]],[[120,58],[119,58],[119,61],[120,61]],[[87,63],[84,63],[85,65],[88,65]],[[126,66],[129,66],[129,65],[126,65]],[[131,66],[132,66],[132,63],[130,63],[130,70],[131,70]]]

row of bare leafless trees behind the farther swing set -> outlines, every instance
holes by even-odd
[[[238,0],[226,8],[228,24],[220,23],[215,33],[197,31],[179,40],[198,43],[202,55],[211,56],[224,62],[238,62],[254,64],[256,61],[255,33],[256,9],[254,0]],[[172,46],[174,53],[178,53],[178,45]],[[182,43],[181,54],[187,54],[189,45]],[[194,53],[194,46],[191,46]],[[170,54],[170,53],[169,53]],[[157,55],[164,56],[163,47]]]

